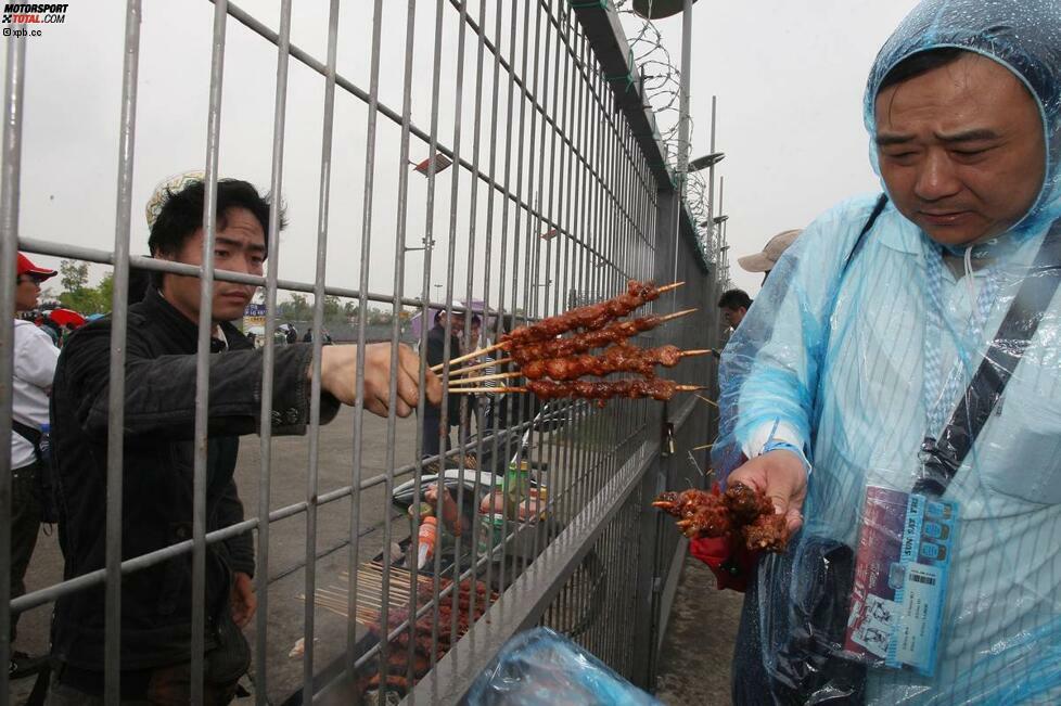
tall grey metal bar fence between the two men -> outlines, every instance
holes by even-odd
[[[387,3],[389,12],[399,3]],[[713,437],[712,406],[700,396],[678,395],[660,403],[647,400],[610,402],[598,408],[587,402],[538,405],[526,395],[509,395],[509,414],[503,419],[477,413],[480,402],[462,396],[462,415],[477,423],[458,426],[455,448],[442,459],[442,466],[465,477],[473,464],[482,466],[484,486],[504,487],[509,461],[529,468],[530,483],[544,489],[544,506],[532,508],[525,498],[526,518],[503,524],[503,531],[478,532],[477,528],[450,538],[446,551],[435,553],[433,564],[423,570],[388,560],[392,544],[408,551],[404,542],[416,538],[419,518],[411,523],[404,510],[389,503],[396,488],[413,483],[411,503],[418,506],[427,488],[425,465],[437,457],[419,459],[424,431],[417,424],[417,459],[401,464],[395,449],[399,439],[398,420],[392,406],[383,438],[368,437],[363,428],[363,396],[354,407],[353,437],[345,453],[350,458],[348,483],[322,487],[320,483],[320,335],[314,336],[315,375],[308,433],[308,462],[305,470],[305,500],[273,506],[270,501],[271,438],[274,343],[278,325],[277,298],[280,292],[312,293],[315,331],[323,321],[325,295],[356,299],[357,345],[366,345],[367,309],[370,301],[392,309],[392,342],[400,339],[399,315],[419,312],[426,320],[432,309],[463,315],[470,323],[471,305],[478,300],[487,317],[486,337],[502,333],[506,316],[516,324],[564,310],[574,303],[600,300],[619,293],[629,279],[657,282],[685,281],[685,286],[668,293],[652,305],[655,312],[698,308],[686,319],[668,323],[641,337],[642,345],[674,343],[681,348],[710,348],[717,339],[715,316],[716,282],[714,267],[700,249],[696,229],[678,198],[676,177],[665,163],[651,108],[640,87],[637,68],[613,10],[606,2],[566,0],[502,0],[460,2],[409,0],[400,3],[401,22],[387,24],[386,39],[400,42],[406,61],[400,67],[401,104],[388,106],[381,100],[381,46],[384,42],[383,0],[361,0],[356,12],[371,17],[371,46],[366,48],[367,86],[359,86],[336,73],[340,33],[338,0],[331,0],[328,44],[317,57],[291,43],[292,2],[283,0],[277,29],[231,2],[215,0],[213,61],[209,76],[209,112],[206,116],[207,154],[204,211],[204,266],[181,266],[131,254],[132,185],[135,180],[156,180],[156,175],[135,175],[138,57],[140,52],[140,3],[127,3],[125,68],[123,73],[122,118],[118,126],[117,228],[113,252],[78,246],[74,242],[41,241],[18,232],[20,165],[31,157],[22,152],[23,84],[27,80],[25,39],[5,40],[7,76],[4,88],[2,244],[0,272],[3,273],[0,306],[13,310],[14,260],[17,249],[28,253],[76,258],[113,267],[114,303],[110,374],[108,471],[106,478],[106,564],[90,574],[71,578],[10,601],[10,525],[0,522],[0,622],[7,625],[9,611],[23,612],[55,601],[90,586],[103,583],[106,590],[105,677],[106,697],[115,702],[119,689],[120,580],[119,576],[190,553],[193,565],[192,644],[189,658],[195,699],[202,701],[205,651],[205,557],[207,547],[238,532],[254,531],[257,547],[256,589],[258,613],[254,629],[255,665],[253,677],[258,703],[287,701],[359,698],[366,684],[386,685],[396,675],[406,685],[417,681],[413,665],[413,638],[418,625],[431,626],[430,671],[416,689],[408,691],[410,703],[453,703],[469,689],[474,677],[494,657],[503,642],[517,631],[546,625],[566,633],[635,683],[651,688],[655,660],[669,603],[680,566],[683,544],[673,523],[665,522],[649,502],[665,488],[702,485],[706,451]],[[351,12],[344,3],[342,12]],[[233,24],[242,25],[277,47],[277,92],[273,113],[272,176],[269,191],[281,194],[284,179],[284,134],[287,110],[287,77],[292,61],[314,72],[322,80],[323,125],[319,172],[320,201],[317,228],[316,277],[296,282],[279,278],[281,248],[278,231],[278,200],[273,200],[267,234],[271,255],[265,277],[214,270],[213,243],[217,233],[215,214],[216,182],[221,175],[218,155],[227,136],[220,130],[226,36]],[[393,31],[399,28],[397,34]],[[399,36],[400,35],[400,36]],[[452,43],[456,42],[456,49]],[[419,62],[419,63],[418,63]],[[399,68],[386,67],[387,80]],[[417,92],[416,73],[431,72],[431,94]],[[443,86],[451,87],[451,91]],[[336,139],[336,95],[357,99],[363,110],[363,191],[360,194],[360,229],[355,235],[332,232],[329,208],[336,194],[331,190],[334,142]],[[430,100],[430,111],[414,110]],[[418,123],[414,115],[427,115]],[[399,130],[395,150],[380,150],[381,125]],[[452,167],[438,155],[445,155]],[[423,166],[410,169],[424,158]],[[397,183],[381,183],[378,175],[386,165],[400,167]],[[410,196],[416,182],[416,198]],[[424,188],[421,188],[424,187]],[[389,202],[381,201],[385,194]],[[384,232],[379,227],[381,207],[393,209]],[[411,214],[423,219],[425,231],[409,232]],[[421,216],[422,215],[422,216]],[[393,223],[393,228],[389,226]],[[421,241],[423,247],[410,247]],[[359,264],[351,261],[348,281],[325,284],[325,254],[329,241],[349,240]],[[412,258],[421,258],[420,267]],[[393,266],[392,266],[393,260]],[[393,267],[393,288],[370,291],[370,270]],[[206,438],[207,405],[210,394],[209,311],[204,307],[199,321],[197,396],[195,423],[194,503],[188,509],[193,524],[191,539],[151,554],[123,560],[122,484],[128,468],[123,464],[123,413],[128,303],[125,292],[130,267],[156,272],[193,274],[201,279],[203,300],[209,299],[215,281],[241,282],[261,286],[266,292],[267,318],[261,378],[260,470],[258,503],[247,509],[253,515],[239,525],[207,532]],[[419,282],[419,287],[416,283]],[[419,295],[407,296],[412,283]],[[434,296],[432,296],[434,294]],[[421,371],[424,364],[426,329],[422,326]],[[465,326],[465,331],[468,326]],[[0,333],[0,378],[12,375],[12,328]],[[464,337],[463,345],[475,342]],[[392,369],[397,361],[392,354]],[[679,382],[713,386],[714,359],[690,358],[668,377]],[[448,387],[449,365],[443,372]],[[421,389],[424,375],[421,373]],[[357,369],[359,390],[363,389],[363,357]],[[396,378],[391,381],[392,398]],[[442,409],[447,409],[448,393]],[[713,398],[712,389],[704,397]],[[496,399],[495,399],[496,401]],[[421,394],[418,413],[422,418]],[[445,412],[444,412],[445,415]],[[493,422],[493,426],[487,424]],[[0,388],[0,433],[10,434],[11,388]],[[446,424],[444,419],[443,424]],[[4,436],[4,438],[9,438]],[[382,473],[367,472],[363,458],[369,447],[382,447]],[[244,449],[246,445],[244,445]],[[430,468],[429,468],[430,470]],[[290,471],[286,471],[290,473]],[[488,477],[486,477],[488,474]],[[476,476],[477,477],[477,476]],[[513,476],[514,477],[514,476]],[[0,462],[0,517],[11,516],[10,459]],[[477,485],[472,484],[474,488]],[[370,517],[367,502],[387,509],[382,517]],[[461,512],[475,509],[482,489],[457,483],[455,499]],[[344,508],[348,531],[337,542],[320,545],[318,516],[323,509]],[[292,565],[274,565],[270,557],[270,528],[281,522],[305,524],[304,560]],[[414,548],[416,543],[411,544]],[[325,556],[346,553],[348,586],[345,596],[320,600],[322,577],[318,563]],[[369,587],[359,567],[376,562],[376,589]],[[303,634],[306,651],[302,657],[299,681],[276,683],[277,671],[270,659],[277,650],[271,644],[276,626],[270,624],[270,586],[281,578],[302,573],[306,604]],[[396,581],[404,581],[394,605]],[[442,606],[446,596],[456,605],[460,582],[480,580],[497,599],[486,619],[470,626],[466,634],[458,619],[459,609],[448,619]],[[425,582],[426,581],[426,582]],[[426,589],[409,590],[425,586]],[[465,583],[466,585],[466,583]],[[360,603],[367,592],[376,591],[375,614],[358,622],[365,614]],[[315,601],[314,596],[318,596]],[[279,600],[283,600],[282,596]],[[474,592],[469,613],[476,614]],[[329,601],[331,603],[329,604]],[[340,601],[340,605],[335,602]],[[343,614],[345,603],[345,647],[341,657],[318,658],[315,636],[320,621]],[[331,613],[322,608],[331,607]],[[482,612],[486,606],[480,606]],[[361,613],[358,611],[361,609]],[[346,617],[350,616],[350,617]],[[371,626],[375,622],[374,631]],[[386,633],[386,639],[382,639]],[[401,636],[408,638],[402,642]],[[450,644],[448,652],[440,643]],[[0,636],[0,662],[8,656],[7,632]],[[395,654],[407,652],[405,662]],[[329,654],[334,654],[330,652]],[[398,667],[393,665],[398,664]],[[0,677],[0,694],[8,694],[7,677]],[[396,682],[394,682],[396,683]],[[396,693],[405,689],[396,686]]]

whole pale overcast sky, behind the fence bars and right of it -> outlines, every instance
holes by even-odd
[[[202,168],[205,163],[214,11],[205,0],[145,0],[143,4],[132,209],[135,254],[146,253],[143,205],[155,184],[168,175]],[[279,25],[278,0],[244,0],[240,4],[269,26]],[[371,4],[369,0],[344,0],[340,28],[338,72],[362,88],[369,84]],[[406,3],[386,0],[383,4],[381,101],[400,108]],[[487,4],[487,26],[493,26],[495,0]],[[760,278],[741,272],[736,267],[738,255],[757,251],[781,230],[805,226],[840,198],[879,189],[867,159],[861,92],[878,48],[913,4],[912,0],[705,0],[695,5],[692,153],[696,156],[707,151],[711,97],[716,94],[717,149],[727,155],[718,172],[726,178],[724,206],[730,216],[730,254],[739,285],[754,293]],[[417,3],[413,121],[424,129],[430,124],[434,7],[434,2]],[[327,1],[298,0],[295,8],[293,43],[323,60]],[[448,98],[455,91],[458,23],[448,3],[446,9],[442,94]],[[473,14],[476,12],[473,9]],[[502,10],[502,16],[508,12]],[[677,63],[681,53],[680,17],[657,24]],[[44,36],[27,40],[20,213],[23,236],[101,249],[113,246],[124,25],[122,2],[72,3],[64,25],[42,26]],[[474,46],[470,36],[462,132],[463,153],[469,158]],[[487,67],[487,86],[491,76]],[[263,190],[269,185],[274,81],[274,47],[230,21],[220,170],[226,176],[246,178]],[[291,228],[282,235],[282,278],[314,278],[323,80],[293,61],[283,185]],[[444,100],[440,108],[439,134],[447,144],[453,142],[452,104],[452,100]],[[366,116],[362,102],[340,92],[327,281],[351,288],[360,274]],[[500,120],[504,121],[503,115]],[[395,283],[398,175],[407,166],[398,158],[397,127],[381,119],[379,130],[370,291],[389,293]],[[419,141],[412,142],[411,150],[414,159],[426,156],[426,147]],[[485,150],[484,145],[484,158]],[[406,235],[410,246],[420,244],[426,222],[426,182],[413,177]],[[449,179],[439,178],[435,238],[440,243],[434,253],[433,283],[445,282],[450,245],[449,188]],[[463,240],[470,213],[466,178],[461,189],[464,205],[459,209],[452,243],[455,277],[463,290],[468,268],[477,268],[472,279],[478,295],[484,258],[466,257],[469,248]],[[482,214],[485,190],[480,191],[480,200]],[[473,249],[482,249],[482,240]],[[402,290],[408,296],[420,294],[422,257],[419,252],[406,256]],[[500,257],[500,253],[495,254],[493,266]],[[97,275],[100,272],[102,269],[97,268]]]

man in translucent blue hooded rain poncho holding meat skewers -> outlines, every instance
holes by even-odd
[[[750,581],[734,701],[1058,704],[1061,2],[925,0],[865,115],[886,203],[811,224],[723,357],[716,467],[800,529]],[[1026,281],[1049,284],[1041,306],[1013,306]],[[933,673],[838,666],[851,582],[830,573],[853,570],[867,488],[923,488],[948,437],[968,452],[935,488],[960,519]],[[801,636],[830,591],[841,637]]]

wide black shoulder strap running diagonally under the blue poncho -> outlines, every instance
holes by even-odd
[[[1021,288],[998,326],[988,355],[980,362],[969,388],[938,440],[925,438],[921,447],[924,472],[915,492],[942,496],[990,418],[1021,357],[1035,336],[1061,282],[1061,220],[1054,221],[1039,245]]]

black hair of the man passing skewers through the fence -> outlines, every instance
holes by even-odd
[[[189,238],[203,227],[203,203],[206,198],[206,184],[193,181],[180,191],[166,190],[166,201],[162,213],[151,228],[148,247],[152,256],[172,255],[183,247]],[[217,226],[226,224],[226,214],[232,208],[246,208],[261,224],[261,231],[269,233],[269,196],[260,195],[248,181],[240,179],[219,179],[217,182]],[[284,210],[280,209],[280,229],[287,224]],[[268,257],[269,241],[266,240]]]

